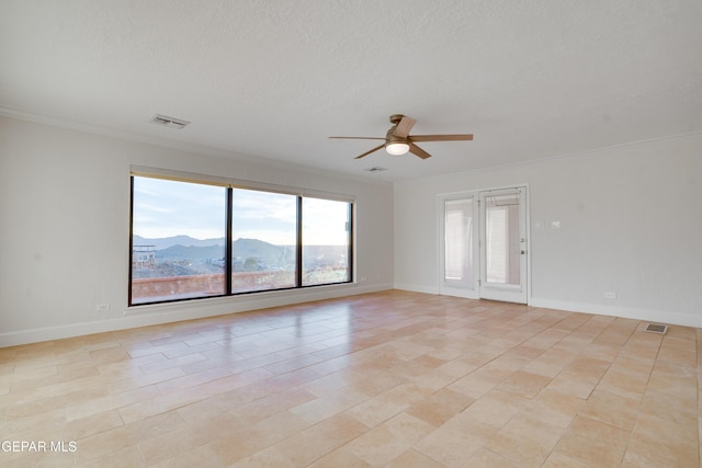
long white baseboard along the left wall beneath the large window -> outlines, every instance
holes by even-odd
[[[377,293],[392,288],[393,285],[389,283],[320,286],[308,289],[258,293],[248,296],[129,307],[124,310],[121,317],[0,333],[0,347],[195,320],[315,300],[335,299],[359,294]]]

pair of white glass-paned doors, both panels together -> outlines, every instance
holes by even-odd
[[[526,304],[525,189],[439,197],[440,292]]]

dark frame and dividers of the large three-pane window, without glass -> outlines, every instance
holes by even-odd
[[[173,297],[160,300],[138,300],[134,301],[134,215],[135,215],[135,178],[150,178],[150,179],[162,179],[173,182],[186,182],[186,183],[195,183],[195,184],[204,184],[204,185],[218,185],[226,187],[225,192],[225,226],[223,229],[225,237],[225,264],[224,264],[224,276],[225,276],[225,285],[224,293],[216,295],[200,295],[194,297]],[[280,193],[286,195],[296,196],[296,246],[294,246],[296,251],[295,259],[295,284],[290,287],[281,287],[281,288],[267,288],[267,289],[253,289],[253,290],[241,290],[235,292],[233,290],[233,273],[234,273],[234,259],[233,259],[233,237],[234,237],[234,191],[235,189],[242,190],[252,190],[265,193]],[[348,275],[346,281],[340,282],[330,282],[330,283],[319,283],[319,284],[303,284],[303,242],[304,239],[302,237],[303,232],[303,201],[305,197],[312,198],[320,198],[325,201],[335,201],[335,202],[343,202],[346,203],[346,208],[348,210],[348,244],[346,246],[346,255],[347,255],[347,269]],[[210,298],[220,298],[220,297],[236,297],[251,294],[264,294],[271,292],[281,292],[281,290],[295,290],[295,289],[306,289],[314,287],[325,287],[325,286],[335,286],[335,285],[344,285],[352,284],[354,282],[354,239],[355,239],[355,198],[344,194],[338,193],[327,193],[320,191],[309,191],[309,190],[298,190],[294,187],[285,187],[280,185],[267,184],[267,183],[258,183],[258,182],[247,182],[235,179],[225,179],[217,176],[207,176],[202,174],[192,174],[184,173],[179,171],[171,170],[159,170],[154,168],[139,168],[133,167],[129,173],[129,270],[128,270],[128,290],[127,290],[127,307],[139,307],[139,306],[148,306],[148,305],[162,305],[170,303],[181,303],[188,300],[200,300],[200,299],[210,299]]]

